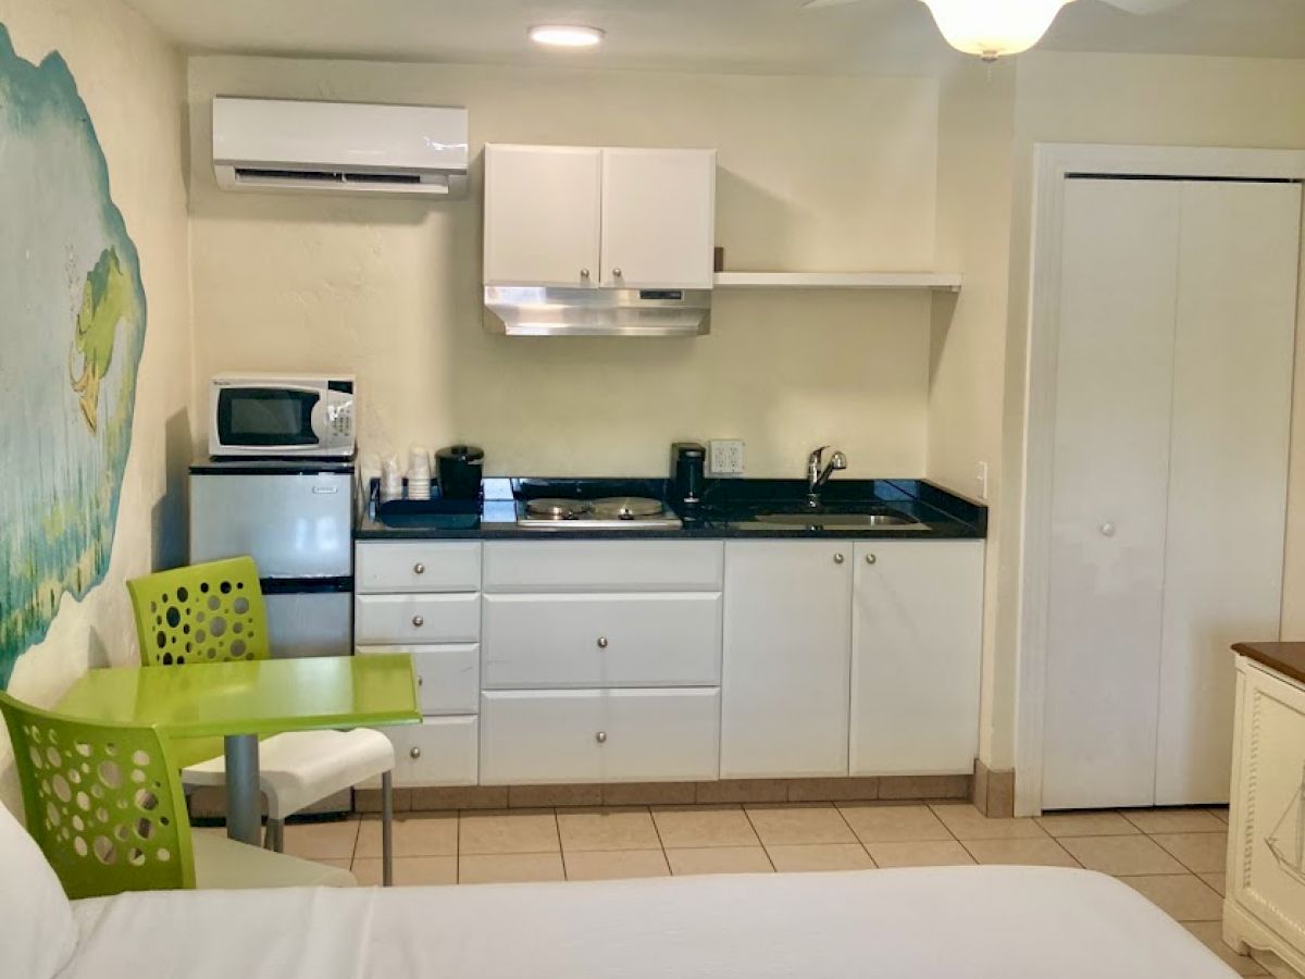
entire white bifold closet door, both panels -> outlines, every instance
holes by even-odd
[[[1228,796],[1282,604],[1300,187],[1070,179],[1043,808]]]

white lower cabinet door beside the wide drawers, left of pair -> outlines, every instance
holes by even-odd
[[[726,544],[720,777],[847,774],[850,542]]]

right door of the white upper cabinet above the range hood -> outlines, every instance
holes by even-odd
[[[711,288],[715,150],[603,150],[603,285]]]

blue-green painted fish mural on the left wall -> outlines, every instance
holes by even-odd
[[[0,688],[108,569],[144,345],[136,245],[77,84],[0,23]]]

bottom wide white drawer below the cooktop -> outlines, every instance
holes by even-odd
[[[719,774],[719,688],[489,691],[480,718],[482,785]]]

